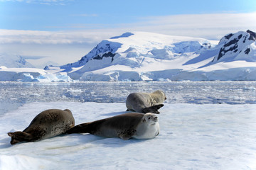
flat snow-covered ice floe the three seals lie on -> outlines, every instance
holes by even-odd
[[[11,146],[41,111],[69,108],[75,124],[124,113],[125,103],[28,103],[1,115],[0,169],[256,169],[256,105],[170,104],[160,109],[160,134],[121,140],[88,134]]]

